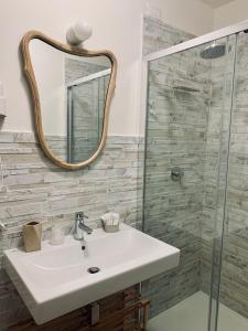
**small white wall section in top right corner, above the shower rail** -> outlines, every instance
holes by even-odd
[[[214,28],[225,28],[248,20],[248,1],[236,0],[217,8],[214,12]]]

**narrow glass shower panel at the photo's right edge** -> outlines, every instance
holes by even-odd
[[[248,35],[237,35],[224,224],[218,330],[247,330],[248,318]],[[227,312],[233,310],[231,318]],[[239,329],[238,329],[239,328]]]

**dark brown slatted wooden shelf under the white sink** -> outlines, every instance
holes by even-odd
[[[90,306],[36,325],[29,319],[10,327],[9,331],[147,331],[149,300],[141,300],[131,287],[98,301],[100,319],[90,325]],[[140,317],[140,318],[138,318]]]

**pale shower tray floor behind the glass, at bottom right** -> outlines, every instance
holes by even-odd
[[[206,331],[208,296],[196,292],[149,321],[148,331]],[[224,305],[219,307],[218,331],[247,331],[248,319]]]

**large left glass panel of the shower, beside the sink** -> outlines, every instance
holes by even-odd
[[[200,299],[200,324],[193,316],[185,321],[198,331],[208,328],[209,312],[204,307],[214,296],[213,275],[217,275],[213,253],[218,252],[217,215],[223,220],[217,206],[223,205],[218,194],[228,150],[225,114],[231,108],[225,90],[231,88],[235,36],[216,43],[223,45],[219,58],[209,55],[206,49],[213,43],[208,43],[151,61],[148,70],[143,228],[180,248],[181,261],[144,282],[142,291],[151,299],[151,316],[164,313],[164,323],[170,319],[168,310],[190,297]],[[217,306],[213,319],[216,310]],[[179,309],[174,329],[168,321],[170,331],[180,331],[176,323],[182,318]]]

